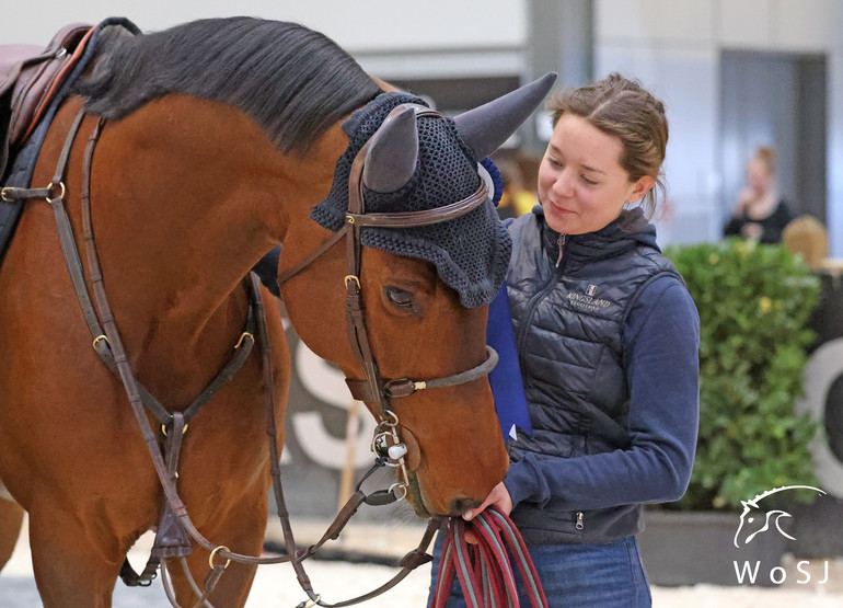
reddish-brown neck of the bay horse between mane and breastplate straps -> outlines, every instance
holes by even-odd
[[[186,381],[197,358],[230,352],[245,318],[243,277],[324,196],[339,152],[330,162],[290,158],[239,111],[186,95],[106,124],[93,161],[93,223],[139,377],[166,360],[183,366],[170,375]]]

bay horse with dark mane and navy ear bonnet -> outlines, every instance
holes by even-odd
[[[0,267],[0,480],[28,513],[44,605],[109,606],[128,549],[166,502],[150,459],[157,448],[145,445],[129,406],[135,385],[97,357],[104,335],[90,347],[56,198],[86,257],[95,239],[101,277],[89,265],[82,290],[107,292],[123,365],[171,416],[230,359],[250,310],[244,277],[284,243],[278,279],[289,318],[394,432],[391,447],[405,452],[397,481],[414,509],[459,515],[480,504],[508,459],[488,382],[461,374],[489,359],[487,305],[510,244],[477,160],[552,80],[451,119],[297,24],[203,20],[116,38],[42,147],[33,184],[50,184],[63,151],[61,193],[55,184],[50,204],[21,202]],[[339,199],[358,199],[359,213],[337,211]],[[465,200],[473,207],[459,217],[436,217]],[[396,223],[414,213],[430,221]],[[99,299],[96,313],[107,325]],[[277,306],[266,307],[266,333],[274,385],[261,357],[246,357],[183,428],[177,459],[190,520],[219,547],[253,555],[268,511],[265,393],[280,422],[290,378]],[[441,378],[459,381],[439,387]],[[282,443],[281,429],[275,447]],[[209,552],[194,544],[186,560],[201,580]],[[178,601],[189,601],[190,582],[172,576]],[[208,599],[242,606],[253,576],[253,565],[232,563]]]

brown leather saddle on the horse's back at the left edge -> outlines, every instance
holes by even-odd
[[[46,46],[0,46],[0,176],[79,61],[93,26],[62,27]]]

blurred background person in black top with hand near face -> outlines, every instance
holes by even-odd
[[[782,241],[782,230],[794,214],[778,194],[774,161],[775,150],[762,146],[747,163],[747,187],[738,195],[724,237],[738,236],[764,244]]]

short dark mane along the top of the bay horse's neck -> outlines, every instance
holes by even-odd
[[[116,41],[74,92],[122,118],[171,92],[232,105],[285,152],[307,152],[380,88],[331,38],[297,23],[199,20]]]

